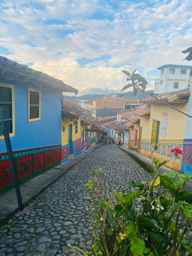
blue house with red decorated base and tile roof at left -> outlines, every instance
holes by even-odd
[[[0,192],[12,186],[2,120],[8,126],[19,182],[60,163],[62,92],[77,89],[0,56]]]

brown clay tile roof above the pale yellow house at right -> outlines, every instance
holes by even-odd
[[[166,93],[161,93],[161,94],[155,94],[155,97],[147,97],[143,99],[143,103],[161,103],[158,99],[161,99],[165,101],[166,103],[175,103],[177,99],[180,100],[188,100],[188,97],[190,95],[190,88],[185,88],[182,90],[176,90],[176,91],[171,91],[171,92],[166,92]],[[182,103],[182,101],[180,102]]]

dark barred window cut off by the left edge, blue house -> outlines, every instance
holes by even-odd
[[[2,132],[2,120],[6,121],[10,136],[14,135],[14,88],[11,85],[0,85],[0,136]]]

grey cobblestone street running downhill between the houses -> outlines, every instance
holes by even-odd
[[[114,188],[118,191],[128,180],[149,176],[115,144],[95,149],[0,227],[0,256],[61,256],[67,243],[79,245],[79,231],[90,244],[84,183],[88,171],[98,167],[104,169],[106,185],[111,184],[116,167]]]

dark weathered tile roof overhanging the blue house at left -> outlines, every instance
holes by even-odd
[[[2,56],[0,56],[0,81],[14,81],[22,84],[30,83],[38,87],[46,88],[49,91],[57,90],[61,92],[78,93],[77,89],[59,79]]]

